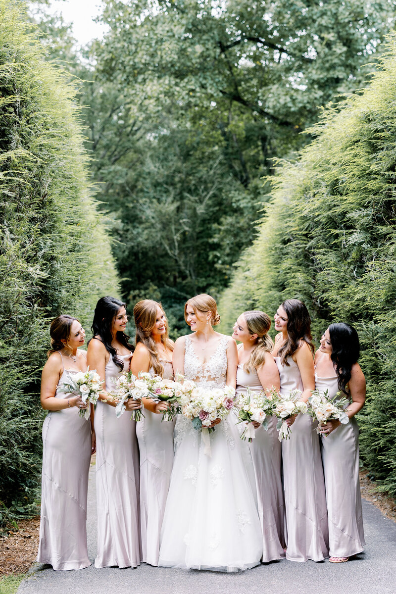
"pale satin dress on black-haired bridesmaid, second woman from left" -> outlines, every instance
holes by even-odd
[[[118,355],[129,370],[132,353]],[[110,356],[106,365],[106,390],[114,389],[121,371]],[[140,565],[139,451],[136,422],[125,410],[98,401],[95,412],[97,557],[95,567]]]

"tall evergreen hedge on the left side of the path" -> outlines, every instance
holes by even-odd
[[[75,86],[45,63],[25,17],[0,0],[0,522],[36,494],[49,321],[67,312],[88,328],[97,298],[118,292]]]

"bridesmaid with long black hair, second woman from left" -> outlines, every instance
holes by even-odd
[[[115,405],[107,392],[122,371],[129,371],[132,346],[125,334],[125,304],[102,297],[96,304],[93,339],[88,343],[88,365],[105,382],[106,391],[97,402],[95,430],[97,557],[95,567],[140,565],[139,458],[135,421],[131,411],[140,402],[128,400],[126,411],[116,418]]]

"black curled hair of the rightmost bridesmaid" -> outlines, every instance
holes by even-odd
[[[328,330],[332,349],[330,358],[338,376],[338,390],[349,396],[351,369],[360,355],[359,336],[354,327],[345,322],[331,324]]]

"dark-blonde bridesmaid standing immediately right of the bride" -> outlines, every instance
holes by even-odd
[[[274,347],[268,331],[271,320],[263,311],[245,311],[233,328],[238,347],[236,393],[280,389],[277,365],[271,356]],[[268,431],[255,423],[256,437],[249,444],[255,470],[258,513],[263,535],[262,562],[284,557],[284,503],[281,481],[281,444],[277,419],[268,420]]]

